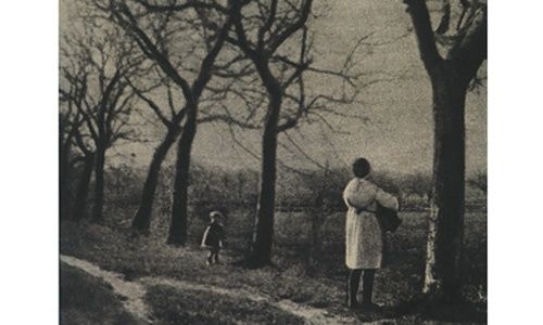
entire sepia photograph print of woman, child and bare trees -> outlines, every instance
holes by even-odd
[[[60,324],[487,323],[487,1],[59,3]]]

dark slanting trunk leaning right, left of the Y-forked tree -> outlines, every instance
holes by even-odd
[[[156,147],[156,151],[154,152],[153,158],[151,160],[151,165],[149,166],[146,183],[143,184],[143,193],[141,194],[141,200],[131,225],[134,230],[142,234],[149,234],[154,194],[156,193],[161,166],[166,158],[169,148],[175,143],[178,133],[178,126],[173,126],[168,129],[166,136]]]

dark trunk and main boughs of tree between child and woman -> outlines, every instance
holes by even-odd
[[[312,9],[312,0],[303,1],[300,9],[296,9],[298,16],[295,20],[286,20],[277,16],[279,1],[272,1],[269,12],[263,14],[263,21],[255,35],[256,39],[251,41],[245,32],[243,25],[243,15],[241,13],[241,5],[237,3],[238,9],[235,11],[233,25],[236,28],[237,39],[229,39],[231,43],[239,47],[243,53],[252,61],[258,77],[264,84],[268,106],[264,122],[264,133],[262,138],[262,170],[261,182],[258,192],[258,204],[252,238],[252,249],[249,257],[242,262],[251,268],[261,268],[269,264],[272,261],[272,246],[274,242],[274,214],[275,214],[275,186],[277,178],[277,136],[281,130],[288,127],[285,125],[279,126],[279,116],[283,101],[285,89],[288,84],[295,80],[303,70],[307,67],[304,62],[304,51],[301,50],[301,62],[296,66],[295,72],[287,79],[281,81],[274,76],[270,68],[270,58],[277,49],[296,31],[303,30],[310,12]],[[273,30],[274,24],[277,28],[276,32],[269,32],[270,36],[266,37],[268,31]],[[304,40],[305,41],[305,40]],[[302,44],[304,47],[305,44]],[[305,49],[305,48],[304,48]],[[291,122],[289,121],[289,127]],[[292,125],[295,125],[295,120]]]

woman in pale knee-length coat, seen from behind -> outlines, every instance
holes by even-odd
[[[355,178],[343,192],[349,208],[345,224],[345,264],[349,268],[348,306],[350,309],[378,310],[371,302],[376,270],[381,266],[383,234],[375,214],[377,204],[397,211],[397,199],[366,180],[369,161],[357,158],[353,164]],[[363,276],[362,303],[356,300]]]

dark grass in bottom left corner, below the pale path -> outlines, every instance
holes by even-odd
[[[100,278],[61,264],[60,324],[138,325]]]

